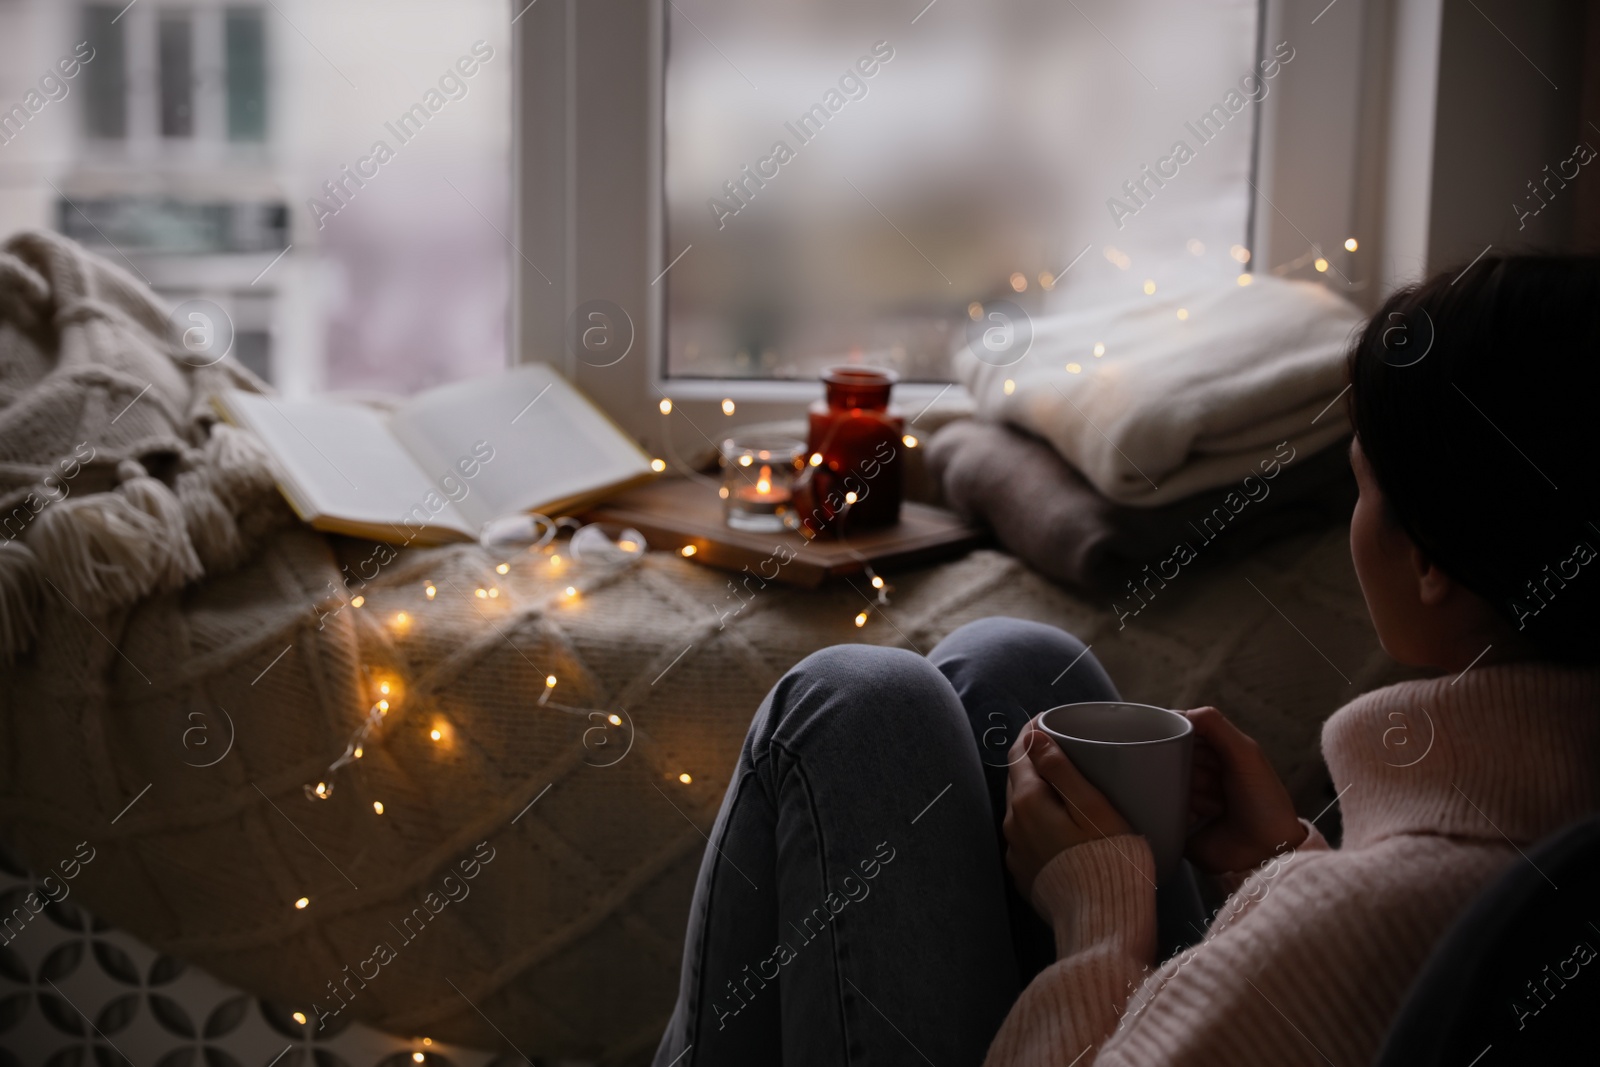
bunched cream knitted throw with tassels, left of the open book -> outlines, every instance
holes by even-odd
[[[245,558],[235,517],[262,515],[272,474],[205,398],[261,384],[170,336],[139,282],[67,238],[0,246],[0,661],[51,585],[98,617]]]

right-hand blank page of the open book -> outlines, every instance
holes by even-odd
[[[440,485],[459,483],[456,507],[478,526],[651,475],[650,458],[542,363],[432,389],[389,424]]]

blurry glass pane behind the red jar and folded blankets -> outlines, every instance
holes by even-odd
[[[974,301],[1038,314],[1069,283],[1238,269],[1248,104],[1208,142],[1184,122],[1251,72],[1253,0],[677,0],[666,21],[672,376],[938,381]],[[1182,176],[1114,219],[1179,139]]]

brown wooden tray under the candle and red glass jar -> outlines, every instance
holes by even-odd
[[[830,577],[912,566],[962,555],[984,541],[984,530],[941,507],[904,504],[896,526],[832,537],[800,533],[744,533],[723,522],[717,491],[686,478],[664,478],[611,498],[582,515],[587,522],[622,523],[645,534],[651,549],[694,545],[694,560],[790,585],[816,587]],[[776,568],[776,574],[773,569]]]

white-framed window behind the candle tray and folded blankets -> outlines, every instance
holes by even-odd
[[[949,403],[950,354],[995,301],[1040,315],[1235,277],[1264,197],[1306,173],[1258,171],[1290,80],[1282,61],[1261,77],[1267,32],[1322,50],[1298,99],[1342,109],[1371,5],[1346,6],[1318,27],[1280,0],[520,5],[518,357],[661,453],[794,418],[830,363],[899,371],[910,411]],[[1347,205],[1362,160],[1334,134],[1320,166]],[[1347,214],[1320,213],[1315,242],[1341,246]]]

